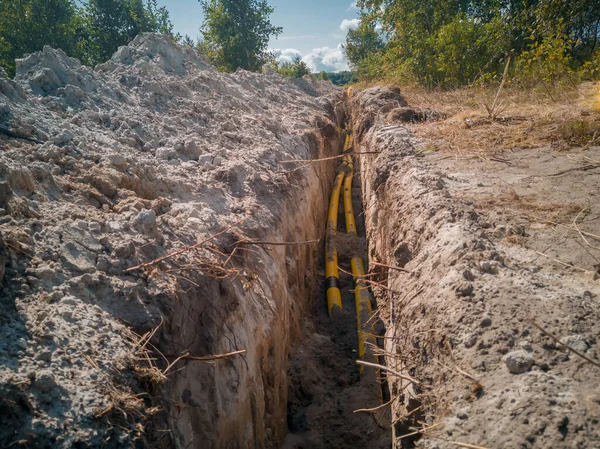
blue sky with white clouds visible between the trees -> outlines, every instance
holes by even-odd
[[[281,62],[301,56],[313,72],[348,70],[341,48],[348,29],[358,26],[358,9],[352,0],[270,0],[275,8],[271,22],[283,27],[269,48]],[[202,25],[198,0],[159,0],[169,10],[175,31],[196,39]]]

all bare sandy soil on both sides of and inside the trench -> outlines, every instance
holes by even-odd
[[[359,411],[352,279],[329,318],[319,264],[337,162],[302,162],[344,103],[154,34],[0,73],[0,125],[43,141],[0,137],[0,447],[600,447],[600,148],[425,151],[402,122],[434,111],[352,94],[340,265],[390,267],[391,402]]]

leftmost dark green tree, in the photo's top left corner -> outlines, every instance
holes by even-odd
[[[72,0],[0,0],[0,65],[13,76],[15,59],[44,45],[74,54],[77,28]]]

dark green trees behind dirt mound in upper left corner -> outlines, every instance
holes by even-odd
[[[0,0],[0,66],[12,76],[16,58],[44,45],[97,64],[142,32],[173,34],[157,0]]]

